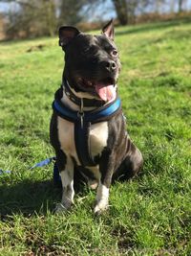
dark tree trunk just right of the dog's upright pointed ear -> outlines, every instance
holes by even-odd
[[[117,18],[121,25],[127,25],[128,23],[128,15],[127,15],[127,3],[125,0],[113,0]]]

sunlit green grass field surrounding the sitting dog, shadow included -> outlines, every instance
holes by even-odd
[[[53,215],[60,189],[49,123],[63,57],[57,38],[0,44],[0,255],[191,255],[191,21],[117,28],[119,94],[144,168],[93,214],[84,187]],[[41,44],[43,47],[39,49]]]

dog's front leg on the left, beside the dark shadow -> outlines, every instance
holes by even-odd
[[[62,180],[62,200],[56,205],[55,212],[67,211],[74,199],[74,163],[70,156],[67,157],[65,169],[60,172]]]

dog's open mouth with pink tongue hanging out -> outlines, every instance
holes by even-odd
[[[111,102],[116,99],[116,80],[108,77],[99,81],[78,78],[77,83],[83,91],[96,94],[102,101]]]

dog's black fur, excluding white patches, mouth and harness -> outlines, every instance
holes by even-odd
[[[106,25],[102,33],[103,35],[86,35],[73,27],[59,29],[59,45],[65,52],[63,79],[69,81],[75,92],[89,92],[96,99],[97,94],[93,84],[96,81],[116,83],[120,70],[117,47],[113,40],[113,24],[110,22]],[[87,85],[86,81],[92,81],[92,86]],[[56,97],[62,97],[60,90],[55,93]],[[99,166],[99,182],[107,188],[117,178],[127,179],[136,175],[143,162],[140,151],[126,132],[126,124],[121,110],[108,120],[108,130],[107,146],[95,159]],[[55,112],[52,116],[50,134],[51,144],[56,153],[57,166],[61,172],[65,169],[67,156],[60,149]],[[83,173],[91,180],[96,178],[87,167],[77,166],[74,157],[72,159],[75,183],[80,176],[77,175],[78,172]],[[71,193],[70,186],[65,187],[64,193]]]

